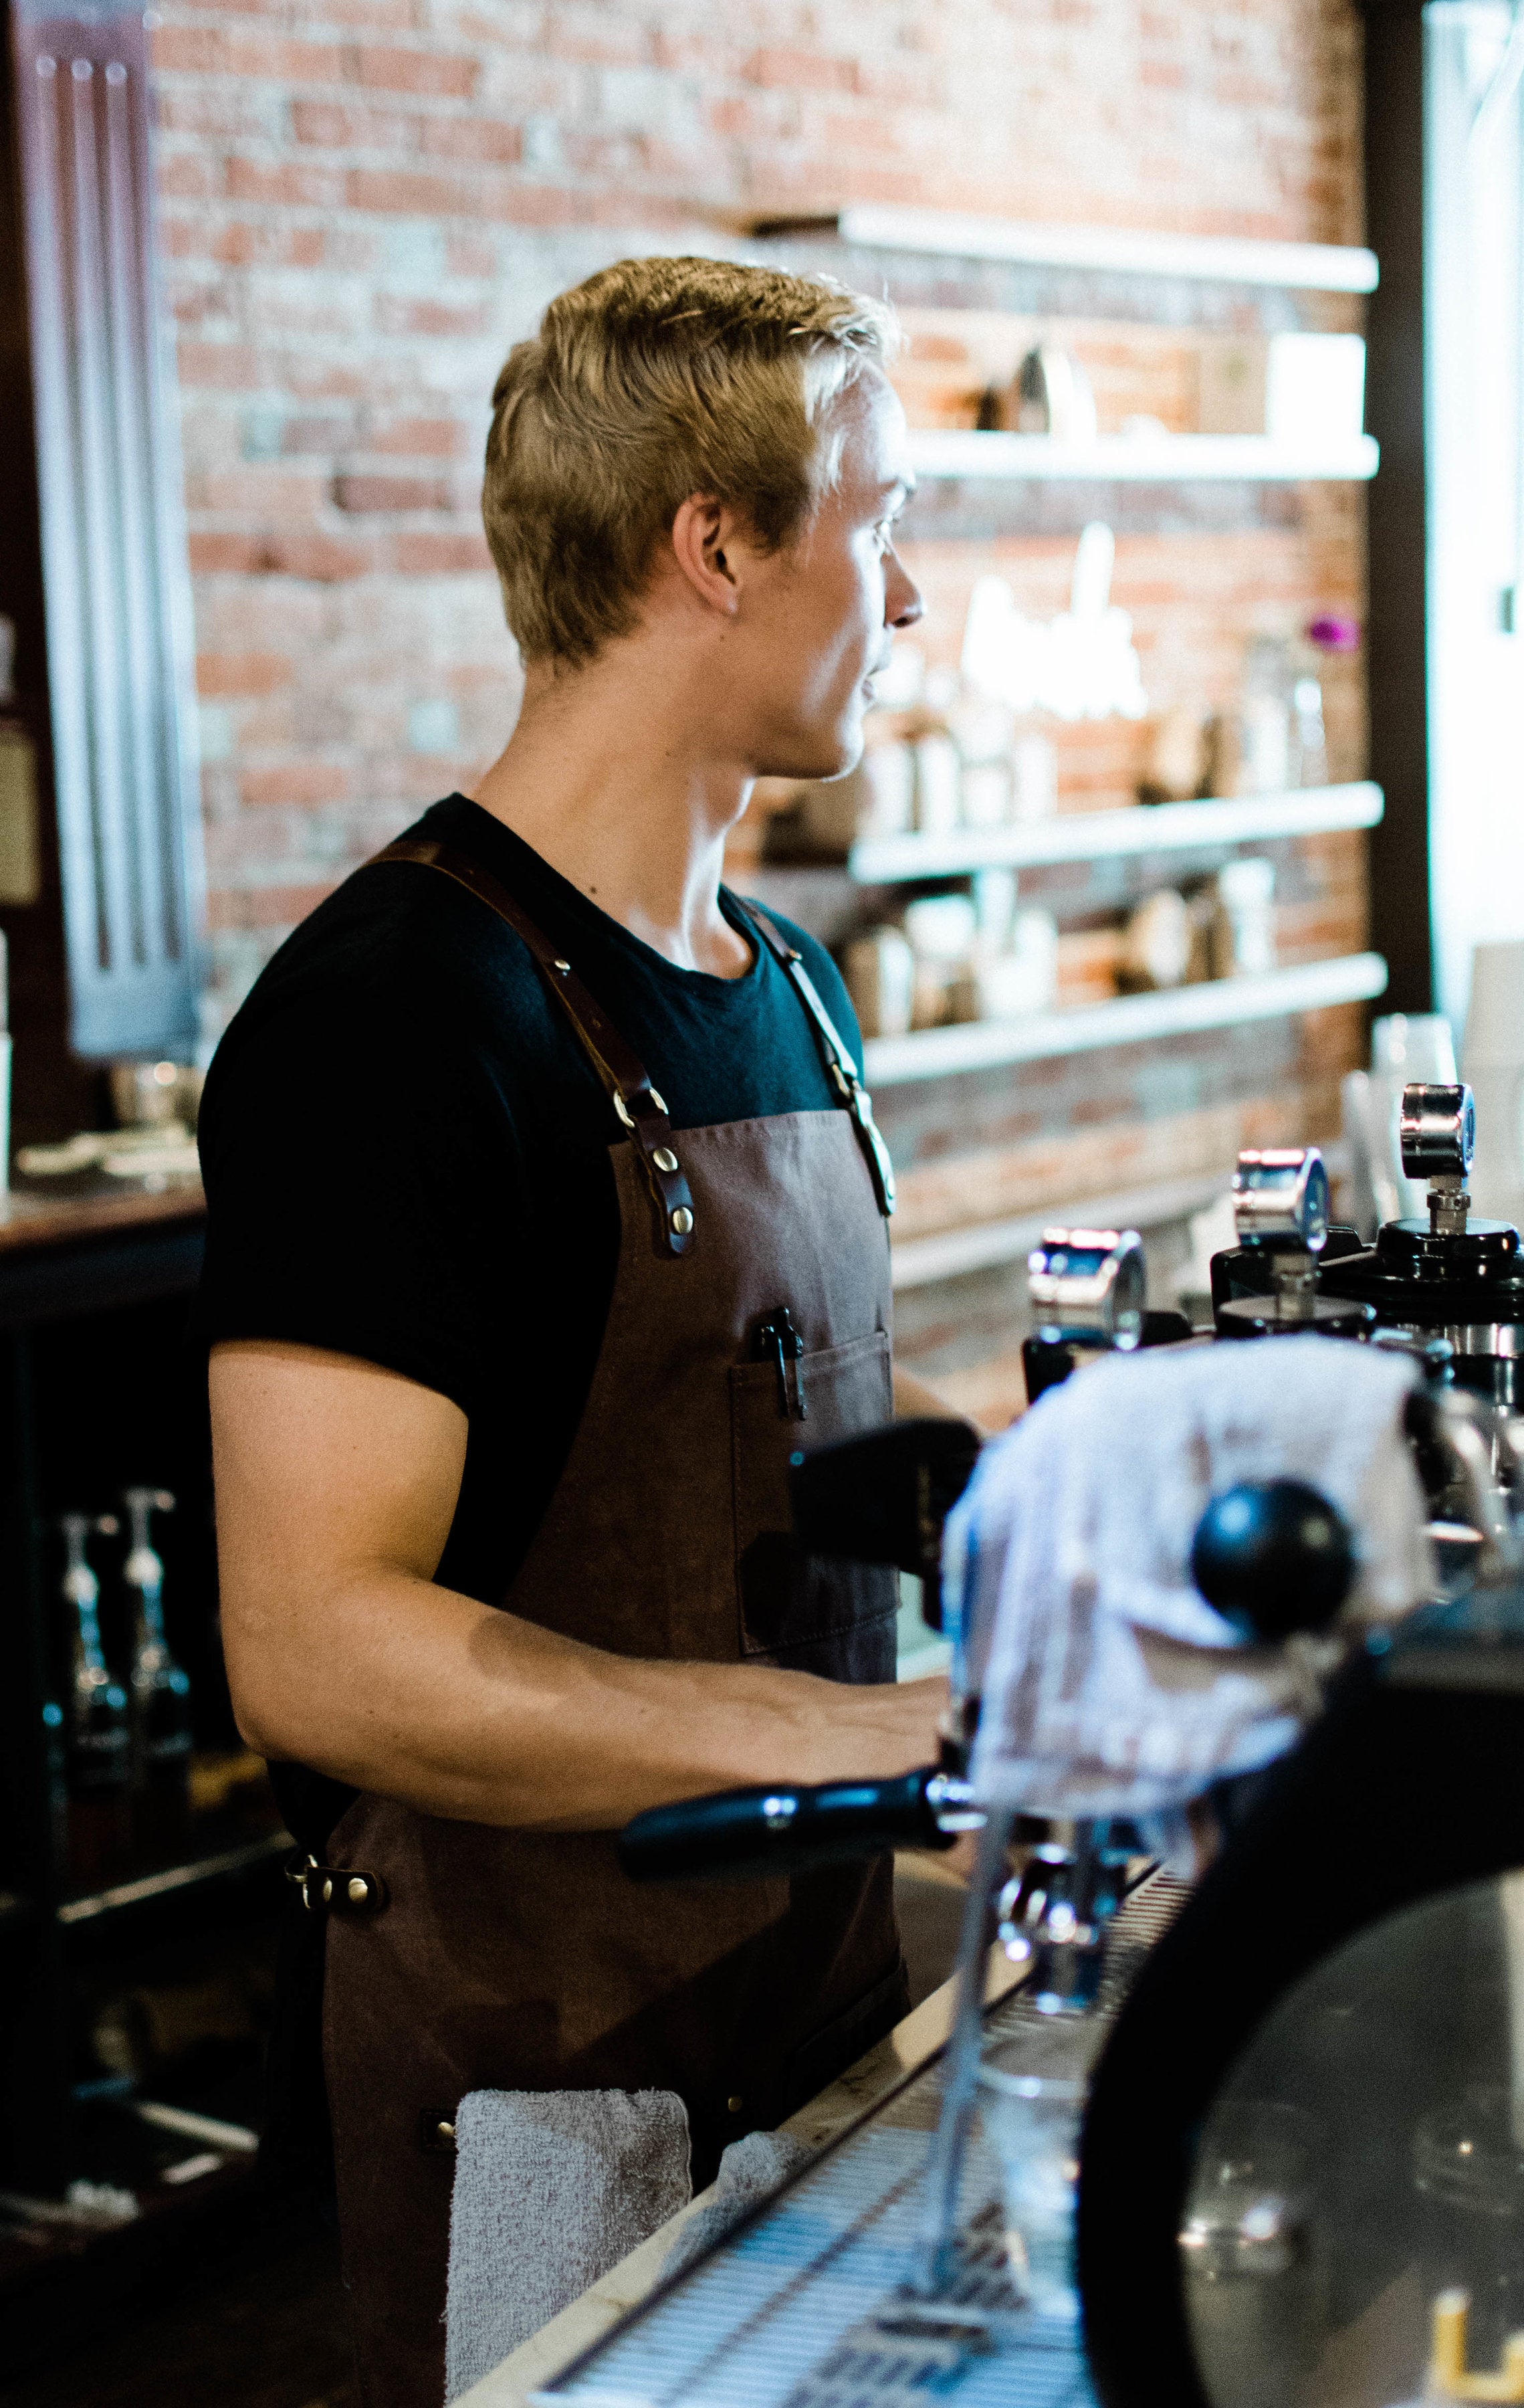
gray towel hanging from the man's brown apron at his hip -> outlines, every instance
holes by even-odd
[[[472,2090],[455,2114],[445,2401],[689,2203],[674,2090]]]

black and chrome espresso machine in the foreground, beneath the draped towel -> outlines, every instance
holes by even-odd
[[[1469,1214],[1471,1149],[1469,1091],[1408,1088],[1404,1168],[1430,1214],[1375,1245],[1329,1223],[1317,1149],[1240,1156],[1216,1336],[1413,1361],[1437,1577],[1370,1633],[1295,1753],[1209,1794],[1221,1854],[1107,2025],[1076,2213],[1103,2408],[1524,2401],[1524,1267],[1512,1228]],[[1033,1399],[1105,1344],[1086,1332],[1071,1365],[1045,1346],[1081,1336],[1042,1327],[1071,1235],[1033,1255]],[[1317,1500],[1300,1507],[1216,1500],[1197,1539],[1197,1587],[1228,1616],[1254,1589],[1262,1635],[1290,1628],[1286,1599],[1315,1628],[1319,1563],[1324,1611],[1348,1584],[1351,1534],[1334,1517],[1319,1551]],[[1245,1517],[1259,1577],[1233,1563]]]

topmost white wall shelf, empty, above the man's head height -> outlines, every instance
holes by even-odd
[[[949,260],[1016,260],[1033,267],[1091,267],[1213,284],[1274,284],[1281,291],[1370,294],[1375,250],[1353,243],[1262,243],[1221,234],[1146,234],[1134,226],[1030,226],[1014,217],[951,209],[896,209],[864,202],[833,217],[763,217],[754,234],[833,234],[864,250],[927,250]]]

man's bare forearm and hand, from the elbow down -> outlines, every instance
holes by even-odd
[[[905,1772],[937,1751],[941,1681],[614,1657],[404,1572],[327,1594],[315,1623],[325,1664],[296,1628],[248,1664],[234,1649],[248,1741],[424,1813],[609,1830],[705,1789]]]

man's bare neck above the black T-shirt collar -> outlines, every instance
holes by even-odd
[[[669,669],[624,648],[530,669],[472,799],[679,970],[742,978],[751,949],[720,910],[720,869],[751,775],[715,751],[713,713]]]

